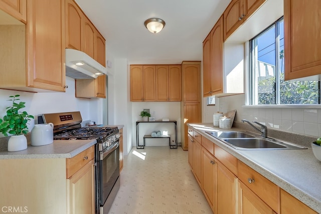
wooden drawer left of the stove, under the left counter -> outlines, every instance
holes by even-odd
[[[95,146],[82,151],[72,158],[66,159],[67,178],[71,177],[76,171],[81,169],[86,163],[92,160],[95,156]]]

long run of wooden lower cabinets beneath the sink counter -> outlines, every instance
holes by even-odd
[[[213,213],[317,213],[213,140],[188,133],[189,164]]]

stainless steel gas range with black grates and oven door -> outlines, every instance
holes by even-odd
[[[107,214],[120,186],[119,130],[117,127],[81,127],[80,112],[42,114],[38,123],[54,124],[54,140],[96,139],[96,214]]]

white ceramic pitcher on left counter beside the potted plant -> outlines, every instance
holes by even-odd
[[[31,145],[42,146],[54,142],[54,124],[36,124],[31,130]]]

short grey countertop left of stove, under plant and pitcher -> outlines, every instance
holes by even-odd
[[[25,158],[71,158],[96,144],[96,140],[54,140],[43,146],[32,146],[22,151],[9,152],[7,147],[0,147],[0,159]],[[2,142],[5,143],[5,142]]]

